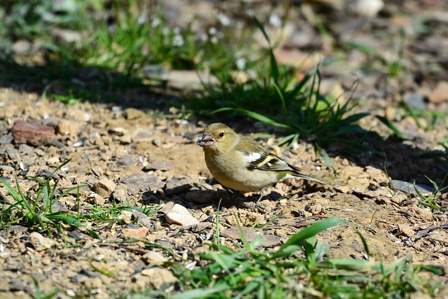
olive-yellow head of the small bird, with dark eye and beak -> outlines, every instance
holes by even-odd
[[[197,139],[196,144],[202,146],[204,151],[225,151],[238,142],[238,135],[223,123],[212,123],[204,129],[204,134]]]

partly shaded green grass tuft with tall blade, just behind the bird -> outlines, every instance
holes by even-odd
[[[270,44],[264,27],[254,20]],[[287,135],[280,144],[300,137],[320,145],[343,142],[363,147],[361,141],[351,141],[346,135],[366,134],[357,122],[368,113],[352,113],[349,101],[339,104],[336,99],[321,95],[318,69],[297,82],[292,69],[279,67],[272,46],[268,56],[269,71],[259,74],[260,80],[243,84],[221,80],[221,85],[206,87],[202,97],[191,99],[190,107],[203,114],[242,114],[278,127]]]

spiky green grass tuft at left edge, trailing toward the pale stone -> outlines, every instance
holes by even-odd
[[[95,238],[99,238],[94,230],[85,228],[83,223],[94,223],[94,225],[101,225],[103,223],[118,223],[124,224],[123,219],[118,216],[122,211],[140,211],[146,216],[154,216],[157,214],[159,207],[132,207],[129,202],[120,202],[116,204],[113,200],[111,206],[99,206],[94,204],[93,206],[80,208],[79,189],[87,185],[80,185],[69,188],[58,195],[57,187],[59,179],[55,179],[55,174],[64,167],[70,160],[59,165],[50,176],[43,179],[42,177],[34,176],[29,177],[38,183],[38,188],[35,193],[29,192],[25,194],[20,188],[18,179],[15,181],[15,187],[10,185],[4,179],[0,179],[0,183],[6,187],[9,195],[13,198],[12,201],[8,200],[8,197],[1,195],[1,216],[0,216],[0,228],[7,225],[13,225],[19,223],[25,225],[32,230],[46,231],[50,237],[52,237],[53,229],[57,229],[59,232],[62,227],[59,223],[65,223],[71,225],[73,228],[81,228],[87,230],[87,232]],[[16,190],[17,189],[17,190]],[[70,214],[69,211],[53,211],[55,203],[64,198],[69,193],[77,193],[77,212]],[[137,220],[137,219],[136,219]]]

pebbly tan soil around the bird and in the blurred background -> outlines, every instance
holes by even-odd
[[[267,6],[258,5],[258,1],[253,2],[253,5],[260,6],[260,13],[265,17],[278,12],[271,10],[270,6],[267,9]],[[273,146],[272,151],[300,167],[304,174],[328,185],[284,181],[277,183],[269,195],[256,202],[257,195],[235,198],[212,180],[202,149],[195,144],[204,123],[167,118],[140,109],[147,106],[146,102],[158,101],[155,95],[139,95],[135,99],[139,104],[130,108],[93,103],[66,106],[41,100],[39,92],[19,92],[20,88],[15,85],[0,88],[2,179],[15,186],[17,176],[24,194],[34,196],[38,183],[29,177],[49,176],[56,167],[70,159],[55,174],[55,179],[59,180],[57,195],[73,186],[86,186],[80,188],[79,196],[71,192],[62,197],[53,211],[76,215],[78,207],[80,214],[85,214],[99,211],[98,208],[102,207],[115,209],[127,204],[131,207],[162,208],[154,217],[146,217],[137,210],[122,209],[116,216],[119,221],[114,223],[85,223],[101,239],[90,237],[83,228],[73,230],[65,225],[62,225],[60,234],[55,233],[55,239],[50,239],[38,227],[31,230],[14,223],[1,228],[2,296],[32,298],[34,280],[45,293],[61,290],[58,298],[111,298],[115,294],[144,288],[169,290],[176,277],[162,263],[166,260],[184,265],[195,262],[195,266],[200,267],[197,254],[209,250],[205,243],[214,238],[221,199],[221,241],[235,249],[235,233],[226,229],[235,228],[238,223],[246,228],[263,225],[253,232],[265,235],[267,242],[263,246],[271,248],[279,246],[311,223],[322,218],[339,217],[351,224],[332,228],[318,236],[321,242],[330,245],[329,256],[365,258],[366,252],[357,234],[359,231],[376,260],[387,263],[412,254],[416,263],[446,266],[447,193],[440,195],[438,204],[442,208],[431,211],[429,207],[422,207],[409,192],[414,191],[414,180],[430,185],[423,175],[442,183],[444,174],[448,172],[446,149],[435,141],[448,135],[447,125],[437,123],[434,130],[423,130],[424,125],[417,126],[412,118],[404,117],[406,111],[402,106],[403,100],[408,106],[420,105],[420,109],[428,111],[446,110],[448,98],[443,93],[443,82],[448,81],[447,58],[444,57],[447,53],[444,36],[447,36],[448,18],[446,13],[434,11],[446,4],[442,1],[419,1],[417,6],[409,1],[402,8],[402,1],[388,1],[381,18],[363,22],[363,18],[346,18],[346,12],[333,8],[330,1],[299,2],[308,5],[308,11],[300,11],[297,13],[300,18],[291,19],[285,25],[286,34],[279,41],[281,51],[275,53],[279,62],[290,64],[310,57],[297,78],[314,68],[321,61],[321,55],[337,58],[337,53],[330,53],[328,43],[344,43],[352,39],[391,57],[388,62],[402,62],[395,52],[391,53],[391,49],[397,46],[397,28],[401,26],[407,32],[409,39],[401,46],[407,57],[412,59],[403,62],[403,67],[409,71],[402,71],[398,77],[385,74],[384,69],[388,66],[377,66],[381,60],[374,60],[372,69],[377,67],[383,73],[359,71],[360,65],[369,64],[372,57],[352,48],[343,53],[343,63],[325,65],[321,69],[323,90],[329,94],[335,92],[333,95],[337,97],[343,94],[341,99],[347,97],[344,90],[353,85],[352,71],[358,70],[360,83],[352,95],[361,104],[358,109],[385,116],[391,121],[400,120],[394,123],[408,137],[407,140],[387,137],[391,131],[377,118],[364,118],[361,120],[363,127],[384,137],[367,140],[377,153],[346,152],[339,144],[331,144],[325,150],[336,172],[325,165],[309,144],[295,144],[284,153],[283,148]],[[180,6],[179,1],[166,3],[165,13],[174,15],[169,22],[186,22],[186,17],[190,18],[191,11],[183,4]],[[207,6],[208,12],[226,13],[225,8],[215,8],[210,3],[196,1],[195,5]],[[428,3],[435,8],[430,9]],[[318,34],[316,28],[319,24],[309,24],[314,19],[314,15],[309,15],[313,12],[309,5],[325,6],[322,21],[330,20],[325,25],[328,25],[334,40],[326,41]],[[402,15],[402,9],[407,15]],[[200,11],[199,8],[197,10]],[[424,24],[416,20],[422,11],[427,13]],[[214,13],[200,15],[197,22],[201,23],[202,18],[209,15]],[[209,22],[207,26],[214,25]],[[437,30],[419,33],[415,28],[423,28],[423,25]],[[193,28],[197,29],[197,26],[195,22]],[[278,30],[267,28],[268,34]],[[316,47],[321,47],[320,53],[309,55],[309,49]],[[439,64],[434,67],[436,63]],[[185,75],[181,73],[181,82],[176,82],[178,85],[189,85]],[[441,87],[433,88],[438,84],[442,84]],[[442,94],[434,90],[442,90]],[[17,120],[26,121],[27,125],[20,125]],[[25,127],[29,131],[23,132]],[[249,131],[262,130],[258,127],[243,130],[244,133]],[[273,137],[260,142],[272,146],[275,140]],[[442,155],[437,155],[441,151]],[[394,188],[388,184],[384,163],[388,175],[394,180]],[[431,190],[432,186],[421,188]],[[13,200],[4,186],[0,186],[0,192],[9,202],[3,206],[4,211],[13,204]],[[190,221],[192,218],[182,214],[182,209],[176,204],[186,207],[188,216],[193,216],[195,221],[183,223],[185,218]],[[248,235],[251,233],[247,231]],[[446,282],[446,277],[444,279]],[[441,294],[448,295],[448,288]]]

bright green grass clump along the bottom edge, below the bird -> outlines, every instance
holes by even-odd
[[[179,264],[172,267],[180,279],[181,292],[170,298],[406,298],[416,292],[434,292],[421,270],[442,274],[440,267],[411,265],[410,257],[384,265],[366,260],[324,258],[328,246],[316,242],[316,235],[347,224],[328,218],[304,228],[278,250],[259,248],[262,237],[235,251],[218,242],[200,254],[193,270]]]

